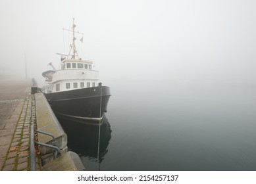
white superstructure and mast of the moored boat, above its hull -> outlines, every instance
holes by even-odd
[[[67,30],[73,34],[73,44],[71,45],[70,52],[68,55],[66,55],[67,58],[64,58],[64,55],[61,56],[60,70],[56,70],[54,66],[49,63],[49,65],[53,67],[53,70],[43,72],[43,76],[46,78],[45,87],[43,89],[45,93],[55,93],[85,87],[95,87],[98,85],[99,72],[92,70],[92,60],[83,60],[82,58],[78,57],[74,42],[76,37],[74,37],[74,34],[82,33],[75,32],[75,27],[76,25],[74,24],[73,19],[72,30]],[[71,51],[72,55],[70,55]]]

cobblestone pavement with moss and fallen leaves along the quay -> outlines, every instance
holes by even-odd
[[[30,170],[30,125],[36,122],[30,86],[31,81],[0,81],[0,170]]]

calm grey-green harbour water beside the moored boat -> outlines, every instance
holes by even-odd
[[[256,170],[255,86],[133,81],[111,93],[101,170]],[[88,170],[97,170],[97,132],[68,133]]]

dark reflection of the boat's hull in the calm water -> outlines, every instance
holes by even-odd
[[[99,126],[72,122],[72,120],[58,116],[58,114],[56,114],[56,116],[68,135],[68,150],[72,150],[80,156],[87,170],[96,170],[98,163]],[[99,163],[103,161],[105,154],[108,152],[107,147],[112,132],[109,121],[105,115],[101,123]]]

